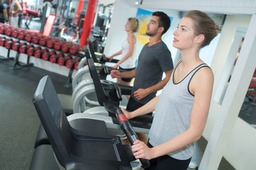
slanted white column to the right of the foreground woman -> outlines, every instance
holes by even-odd
[[[203,154],[199,170],[218,169],[220,160],[228,146],[228,140],[242,101],[252,79],[256,67],[256,14],[252,15],[250,25],[245,35],[238,61],[235,64],[233,76],[223,98],[220,113],[215,121],[215,126],[210,135],[210,140]],[[235,148],[234,148],[235,149]]]

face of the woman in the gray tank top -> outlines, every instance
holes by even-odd
[[[183,17],[174,31],[173,46],[179,50],[189,49],[195,45],[195,32],[193,30],[193,20]]]

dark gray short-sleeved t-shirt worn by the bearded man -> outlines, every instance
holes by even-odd
[[[138,58],[138,67],[136,69],[134,86],[132,89],[132,97],[136,101],[138,100],[133,95],[134,91],[154,86],[161,81],[163,72],[174,69],[171,52],[163,41],[151,45],[150,47],[148,45],[149,43],[144,45]],[[155,96],[156,92],[149,94],[138,102],[146,104]]]

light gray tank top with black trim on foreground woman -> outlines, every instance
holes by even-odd
[[[178,64],[180,64],[178,62]],[[176,68],[178,67],[178,64]],[[201,64],[193,69],[182,81],[174,83],[174,69],[170,81],[164,89],[156,104],[154,120],[149,131],[149,143],[152,146],[161,145],[177,135],[188,130],[194,96],[188,89],[189,83],[198,69],[208,67]],[[188,145],[168,155],[175,159],[186,160],[192,157],[194,145]]]

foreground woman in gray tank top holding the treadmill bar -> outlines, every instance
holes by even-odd
[[[188,11],[174,31],[173,46],[181,50],[170,81],[161,95],[131,113],[134,118],[155,111],[149,142],[132,146],[136,159],[149,159],[149,169],[188,169],[193,142],[206,125],[213,90],[213,72],[199,58],[199,50],[218,35],[219,26],[201,11]]]

